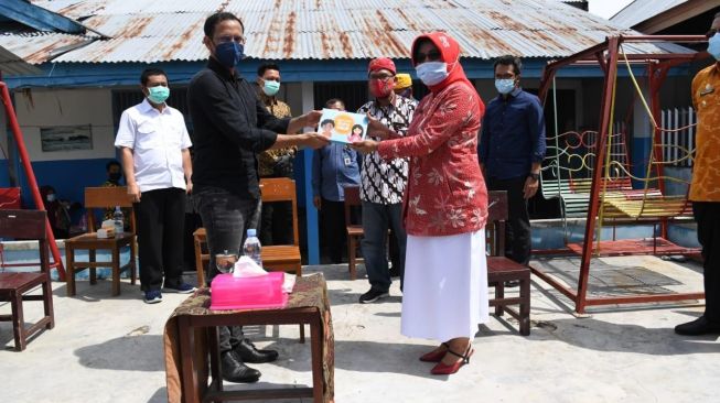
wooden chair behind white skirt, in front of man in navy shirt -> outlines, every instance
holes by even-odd
[[[487,284],[495,287],[495,297],[490,306],[495,307],[495,316],[506,312],[519,322],[520,335],[530,334],[530,269],[505,258],[505,222],[507,221],[507,194],[488,192],[488,217],[486,237],[491,246],[487,257]],[[505,282],[518,281],[519,295],[505,297]],[[519,309],[512,308],[519,305]]]

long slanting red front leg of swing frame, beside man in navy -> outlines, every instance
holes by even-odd
[[[600,188],[602,182],[602,165],[605,155],[605,143],[608,141],[608,130],[612,122],[610,121],[610,109],[612,108],[613,88],[617,76],[617,51],[620,39],[616,36],[608,39],[608,53],[610,61],[608,63],[608,73],[605,78],[605,88],[602,98],[601,123],[598,135],[595,168],[592,172],[592,187],[590,189],[590,206],[588,208],[588,219],[585,221],[584,243],[582,244],[582,260],[580,262],[580,277],[578,279],[578,299],[576,301],[576,312],[583,314],[585,311],[585,298],[588,295],[588,279],[590,276],[590,261],[592,259],[592,248],[595,233],[595,220],[600,203]]]

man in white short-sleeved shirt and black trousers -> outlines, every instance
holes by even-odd
[[[128,194],[133,199],[144,302],[162,301],[161,286],[190,293],[182,280],[185,193],[191,193],[192,145],[182,113],[165,104],[168,75],[148,68],[140,77],[146,99],[122,112],[115,146],[120,149]]]

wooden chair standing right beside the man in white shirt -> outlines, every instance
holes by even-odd
[[[130,208],[130,232],[123,232],[121,236],[116,235],[114,238],[97,238],[95,230],[99,227],[95,222],[94,209],[114,208],[115,206]],[[88,233],[84,233],[65,241],[65,253],[67,257],[67,295],[75,295],[75,274],[85,269],[90,271],[90,284],[97,283],[97,268],[112,269],[112,296],[120,295],[120,273],[130,269],[130,283],[135,285],[136,257],[138,243],[135,236],[136,220],[135,209],[132,209],[132,199],[128,195],[125,186],[117,187],[86,187],[85,188],[85,208],[87,209],[87,228]],[[130,262],[120,266],[120,249],[130,247]],[[88,261],[76,262],[75,251],[87,250]],[[95,255],[97,250],[110,250],[111,260],[109,262],[96,262]]]

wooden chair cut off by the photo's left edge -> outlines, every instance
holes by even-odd
[[[36,239],[40,251],[40,272],[0,272],[0,301],[10,301],[12,312],[11,315],[0,315],[0,322],[12,322],[15,351],[24,350],[28,338],[37,331],[55,327],[45,216],[45,211],[0,210],[0,238]],[[41,295],[25,295],[37,286]],[[43,302],[43,317],[30,327],[24,325],[23,301]]]

